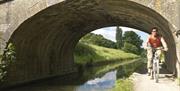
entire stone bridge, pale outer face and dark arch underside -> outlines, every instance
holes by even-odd
[[[1,50],[12,42],[17,53],[4,86],[76,71],[80,38],[116,25],[147,33],[158,27],[167,68],[180,77],[180,0],[0,0]]]

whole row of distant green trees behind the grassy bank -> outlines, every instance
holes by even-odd
[[[123,34],[122,29],[117,26],[116,28],[116,42],[104,38],[100,34],[89,33],[84,36],[81,40],[83,43],[91,43],[98,46],[107,48],[122,49],[126,52],[141,55],[143,51],[141,46],[143,40],[134,31],[126,31]]]

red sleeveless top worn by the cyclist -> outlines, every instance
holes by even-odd
[[[161,47],[161,37],[156,37],[156,38],[152,38],[150,37],[148,42],[150,43],[151,47],[153,48],[157,48],[157,47]]]

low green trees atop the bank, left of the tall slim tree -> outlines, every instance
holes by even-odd
[[[95,44],[95,45],[99,45],[99,46],[103,46],[107,48],[116,48],[115,42],[104,38],[102,35],[93,34],[93,33],[89,33],[86,36],[84,36],[80,40],[80,42]]]

